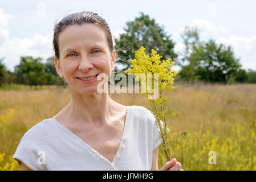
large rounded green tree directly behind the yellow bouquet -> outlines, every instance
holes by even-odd
[[[129,68],[130,59],[134,59],[134,52],[141,46],[146,48],[146,52],[151,54],[151,49],[163,55],[162,59],[166,60],[171,57],[173,60],[177,57],[174,53],[174,43],[170,35],[164,32],[164,27],[160,27],[155,19],[149,18],[148,15],[140,13],[138,18],[132,22],[127,22],[124,28],[125,33],[120,35],[119,39],[115,38],[116,53],[118,58],[117,64],[123,65],[124,71]]]

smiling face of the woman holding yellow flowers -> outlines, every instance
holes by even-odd
[[[95,77],[105,73],[108,78],[115,69],[115,51],[110,52],[105,31],[96,24],[72,25],[59,34],[60,59],[55,57],[55,67],[70,89],[93,94],[101,80]],[[95,77],[93,80],[80,78]]]

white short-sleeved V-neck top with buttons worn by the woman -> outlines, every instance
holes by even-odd
[[[44,119],[22,137],[13,159],[32,170],[151,170],[161,143],[155,117],[143,106],[127,106],[119,148],[110,162],[54,118]]]

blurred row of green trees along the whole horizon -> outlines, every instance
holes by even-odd
[[[171,35],[164,31],[164,26],[156,23],[149,15],[140,16],[127,22],[124,33],[115,38],[117,53],[115,73],[130,68],[130,59],[134,59],[134,52],[141,46],[151,54],[151,49],[162,55],[162,59],[169,57],[180,65],[178,80],[189,82],[219,82],[231,84],[237,82],[256,83],[256,71],[242,69],[239,59],[234,56],[231,46],[217,44],[215,40],[200,40],[200,32],[196,27],[185,27],[181,34],[185,47],[184,52],[175,52]],[[43,63],[40,57],[21,56],[20,63],[14,71],[7,71],[0,59],[0,86],[5,84],[26,85],[65,85],[55,70],[54,56]]]

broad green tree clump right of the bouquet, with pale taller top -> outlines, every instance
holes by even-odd
[[[230,46],[218,45],[214,40],[201,42],[197,28],[186,27],[181,36],[185,44],[182,61],[187,60],[189,63],[182,66],[181,78],[205,82],[235,81],[241,65]]]

